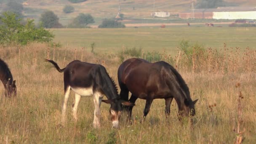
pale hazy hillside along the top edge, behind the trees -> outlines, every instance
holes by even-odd
[[[192,1],[195,0],[120,0],[120,6],[125,17],[149,18],[153,11],[168,11],[174,15],[190,9]],[[256,6],[256,0],[225,1],[242,6]],[[101,21],[104,18],[115,17],[119,8],[118,0],[87,0],[83,3],[70,3],[68,0],[24,0],[23,4],[25,16],[38,20],[43,11],[51,10],[59,16],[62,24],[68,24],[79,13],[91,13],[96,22]],[[62,9],[65,5],[72,5],[75,12],[64,13]]]

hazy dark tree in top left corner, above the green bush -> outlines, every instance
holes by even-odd
[[[11,11],[11,12],[15,13],[19,18],[21,18],[21,17],[23,17],[23,15],[22,15],[23,9],[24,8],[21,3],[18,3],[14,0],[10,0],[6,4],[6,8],[4,9],[4,11]]]

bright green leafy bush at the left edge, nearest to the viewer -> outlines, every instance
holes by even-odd
[[[27,24],[21,25],[17,15],[12,12],[5,12],[0,17],[3,23],[0,25],[0,43],[1,44],[21,44],[26,45],[34,41],[37,42],[51,42],[54,35],[43,29],[43,27],[36,28],[34,20],[27,19]]]

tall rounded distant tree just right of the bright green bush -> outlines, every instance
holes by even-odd
[[[59,23],[59,18],[53,11],[45,11],[41,14],[40,21],[42,21],[43,27],[45,28],[61,28],[62,25]]]

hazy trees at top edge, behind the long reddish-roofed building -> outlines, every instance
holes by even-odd
[[[196,8],[218,8],[226,6],[223,0],[198,0]]]

